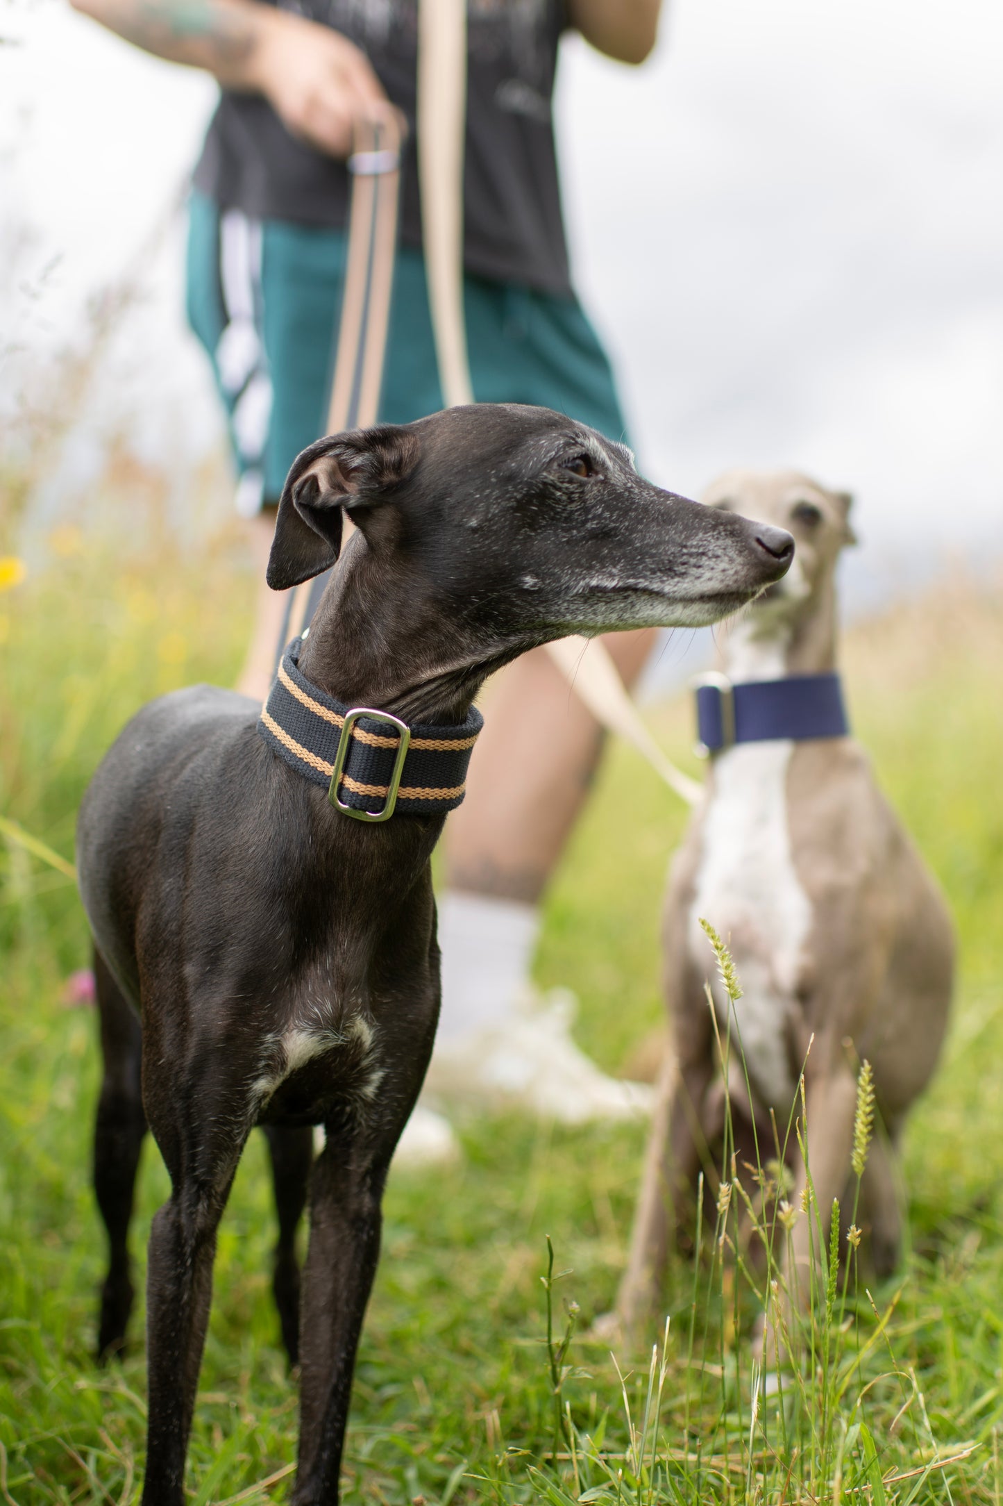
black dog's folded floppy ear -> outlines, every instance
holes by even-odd
[[[341,509],[386,501],[417,464],[417,434],[389,423],[328,435],[298,455],[278,501],[265,575],[272,590],[329,569],[341,548]]]

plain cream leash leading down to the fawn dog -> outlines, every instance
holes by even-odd
[[[463,318],[463,137],[466,0],[420,0],[418,184],[439,383],[447,408],[474,402]],[[609,651],[597,639],[549,643],[547,652],[600,726],[633,744],[681,800],[702,786],[671,764],[644,724]]]

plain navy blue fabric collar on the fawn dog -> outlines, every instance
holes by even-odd
[[[696,682],[696,732],[707,753],[771,738],[845,738],[839,675],[786,675],[734,685],[725,675]]]

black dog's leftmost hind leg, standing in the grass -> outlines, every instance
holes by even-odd
[[[95,947],[95,986],[101,1018],[104,1075],[98,1098],[93,1148],[93,1184],[108,1232],[108,1274],[101,1288],[98,1358],[125,1346],[132,1309],[129,1220],[140,1164],[146,1114],[143,1113],[140,1021]]]

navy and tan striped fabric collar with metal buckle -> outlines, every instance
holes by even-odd
[[[460,804],[484,726],[477,706],[459,727],[408,724],[386,711],[344,706],[301,675],[301,648],[302,639],[295,639],[286,649],[257,724],[272,751],[358,821]]]

